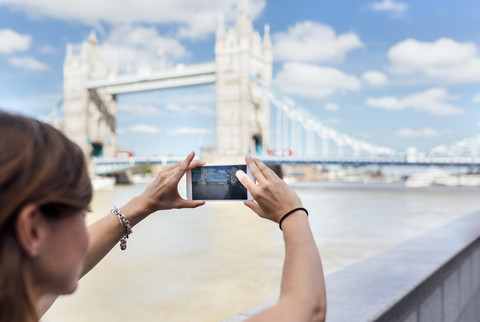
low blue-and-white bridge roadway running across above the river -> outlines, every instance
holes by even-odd
[[[152,157],[130,157],[130,158],[98,158],[93,159],[95,173],[105,175],[123,172],[126,169],[146,164],[161,164],[169,166],[175,162],[182,161],[184,156],[152,156]],[[238,158],[241,159],[241,158]],[[259,156],[259,159],[268,165],[282,164],[323,164],[323,165],[353,165],[353,166],[437,166],[437,167],[480,167],[480,157],[424,157],[417,159],[407,158],[311,158],[311,157],[276,157]],[[218,159],[220,160],[220,159]],[[225,164],[225,162],[214,162],[209,164]]]

